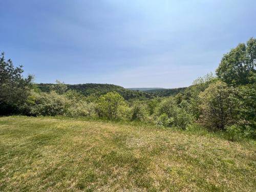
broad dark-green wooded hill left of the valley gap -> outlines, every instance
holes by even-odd
[[[39,83],[37,88],[43,92],[49,92],[52,83]],[[115,86],[114,84],[99,84],[99,83],[86,83],[86,84],[66,84],[69,90],[76,90],[85,96],[89,95],[104,95],[111,91],[116,91],[123,96],[126,100],[129,99],[149,99],[154,96],[150,93],[142,91],[134,91],[125,89],[121,86]]]

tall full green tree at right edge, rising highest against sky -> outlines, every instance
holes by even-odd
[[[217,76],[231,85],[256,82],[256,39],[239,44],[225,54],[216,70]]]

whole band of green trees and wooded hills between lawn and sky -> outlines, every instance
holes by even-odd
[[[256,39],[224,54],[216,73],[188,88],[134,91],[111,84],[34,83],[2,53],[0,114],[138,121],[182,130],[256,137]],[[181,74],[182,75],[182,74]],[[200,129],[201,129],[200,128]]]

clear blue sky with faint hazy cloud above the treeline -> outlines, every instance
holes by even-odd
[[[250,37],[255,0],[0,0],[0,51],[37,83],[187,87]]]

